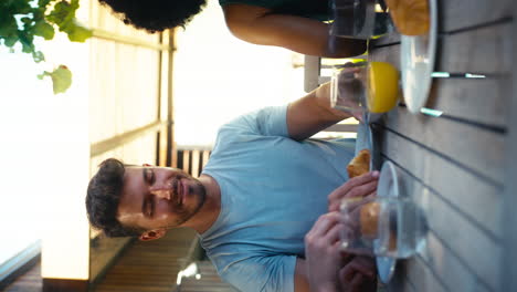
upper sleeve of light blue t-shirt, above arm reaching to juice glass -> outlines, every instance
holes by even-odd
[[[261,135],[288,137],[287,105],[268,106],[242,115],[221,127],[221,132],[230,135]]]

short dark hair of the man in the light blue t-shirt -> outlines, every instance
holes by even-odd
[[[125,170],[120,160],[106,159],[88,184],[86,211],[89,223],[101,229],[107,237],[138,237],[146,231],[141,228],[123,226],[117,220]]]

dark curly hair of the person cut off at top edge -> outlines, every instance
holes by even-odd
[[[122,13],[124,23],[149,32],[183,27],[207,0],[99,0]]]

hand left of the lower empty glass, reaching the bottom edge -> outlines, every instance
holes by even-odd
[[[339,212],[319,217],[305,236],[305,255],[312,292],[337,292],[344,257],[339,251]]]

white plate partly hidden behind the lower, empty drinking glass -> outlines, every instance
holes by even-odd
[[[398,197],[399,190],[399,177],[397,175],[397,169],[392,163],[386,161],[382,165],[381,175],[379,178],[379,187],[377,188],[377,196]],[[387,284],[393,277],[397,259],[389,257],[376,257],[376,262],[379,278],[382,283]]]

